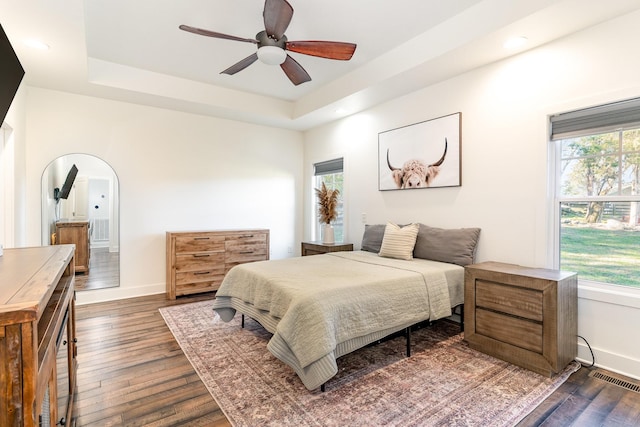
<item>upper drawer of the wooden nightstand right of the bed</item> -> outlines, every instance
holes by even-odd
[[[476,306],[542,322],[542,292],[476,280]]]

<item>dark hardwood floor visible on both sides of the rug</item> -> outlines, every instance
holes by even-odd
[[[76,425],[229,426],[158,312],[212,297],[78,306]],[[593,378],[592,371],[573,374],[519,426],[640,425],[640,393]]]

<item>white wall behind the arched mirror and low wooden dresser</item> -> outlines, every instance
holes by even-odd
[[[271,230],[271,257],[302,234],[300,132],[28,88],[28,245],[41,244],[42,173],[69,153],[100,157],[120,182],[120,287],[94,302],[165,292],[165,232]]]

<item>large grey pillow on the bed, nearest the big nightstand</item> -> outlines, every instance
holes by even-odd
[[[420,224],[414,258],[465,266],[473,264],[479,228],[443,229]]]

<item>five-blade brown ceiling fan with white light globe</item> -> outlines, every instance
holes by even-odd
[[[356,45],[353,43],[318,40],[288,41],[284,32],[289,26],[292,17],[293,7],[286,0],[266,0],[263,12],[265,29],[256,34],[255,39],[231,36],[189,25],[180,25],[179,28],[202,36],[253,43],[258,46],[257,52],[222,71],[221,74],[233,75],[260,59],[260,61],[269,65],[279,64],[280,68],[289,77],[289,80],[297,86],[310,81],[311,77],[286,51],[342,61],[351,59],[356,50]]]

